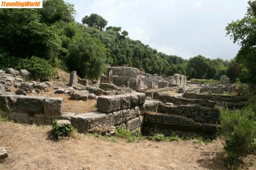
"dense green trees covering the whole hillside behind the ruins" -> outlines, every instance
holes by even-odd
[[[233,81],[251,78],[255,53],[249,48],[241,51],[241,54],[251,54],[249,62],[242,62],[244,57],[229,63],[201,55],[185,60],[130,39],[121,27],[106,27],[108,21],[98,14],[84,16],[82,23],[87,26],[81,25],[74,20],[74,5],[63,0],[45,0],[43,6],[42,9],[0,9],[0,68],[15,68],[20,59],[36,56],[53,67],[76,70],[79,76],[90,79],[102,75],[105,63],[132,66],[165,77],[178,73],[197,79],[219,80],[224,74]],[[252,9],[248,18],[252,18]],[[230,25],[230,34],[235,26]],[[252,31],[248,34],[250,37],[254,35]],[[238,33],[235,35],[236,40],[242,38]]]

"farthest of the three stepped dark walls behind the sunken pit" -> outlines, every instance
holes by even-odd
[[[212,102],[209,100],[177,98],[176,96],[170,96],[168,94],[163,94],[158,92],[154,93],[154,99],[157,99],[164,103],[167,103],[167,102],[173,103],[175,105],[193,104],[193,105],[200,105],[200,106],[209,107],[209,108],[215,108],[216,106],[216,102]]]

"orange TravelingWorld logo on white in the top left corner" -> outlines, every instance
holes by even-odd
[[[42,8],[42,0],[0,0],[0,8]]]

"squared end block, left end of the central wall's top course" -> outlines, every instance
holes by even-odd
[[[121,98],[119,95],[100,96],[97,99],[97,108],[103,113],[121,110]]]

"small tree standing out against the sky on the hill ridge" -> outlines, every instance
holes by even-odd
[[[108,21],[98,14],[91,14],[90,16],[84,16],[82,18],[82,23],[89,27],[95,27],[101,31],[105,28]]]

